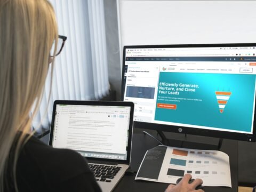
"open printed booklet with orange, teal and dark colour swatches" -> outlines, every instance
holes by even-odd
[[[202,179],[204,186],[231,187],[227,154],[161,145],[146,152],[135,180],[176,183],[186,173]]]

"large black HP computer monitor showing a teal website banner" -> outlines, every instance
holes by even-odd
[[[256,43],[124,46],[134,126],[255,141]]]

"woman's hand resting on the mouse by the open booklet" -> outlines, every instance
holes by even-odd
[[[190,174],[185,174],[182,180],[177,185],[169,185],[165,192],[204,192],[202,189],[196,190],[196,187],[202,185],[202,179],[196,179],[195,181],[188,183],[192,178]]]

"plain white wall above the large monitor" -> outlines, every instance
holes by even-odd
[[[117,0],[117,6],[121,58],[124,45],[256,43],[256,1]]]

